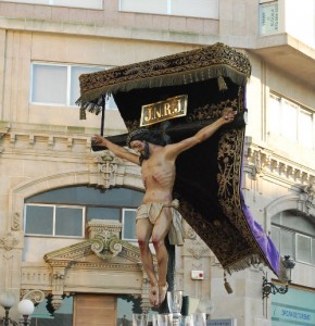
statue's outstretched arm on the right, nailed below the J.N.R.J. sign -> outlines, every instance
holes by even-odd
[[[177,143],[168,146],[168,154],[171,159],[176,158],[181,152],[190,149],[191,147],[209,139],[215,131],[217,131],[223,125],[231,123],[235,118],[236,112],[232,109],[226,109],[223,115],[214,123],[200,129],[194,136],[186,138]]]

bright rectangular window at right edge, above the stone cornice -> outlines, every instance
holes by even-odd
[[[270,93],[269,130],[300,146],[315,148],[315,114],[301,105]]]

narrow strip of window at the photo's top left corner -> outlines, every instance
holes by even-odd
[[[2,2],[34,3],[71,8],[103,9],[103,0],[2,0]]]

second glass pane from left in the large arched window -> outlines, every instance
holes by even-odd
[[[83,208],[55,208],[55,235],[83,237]]]

